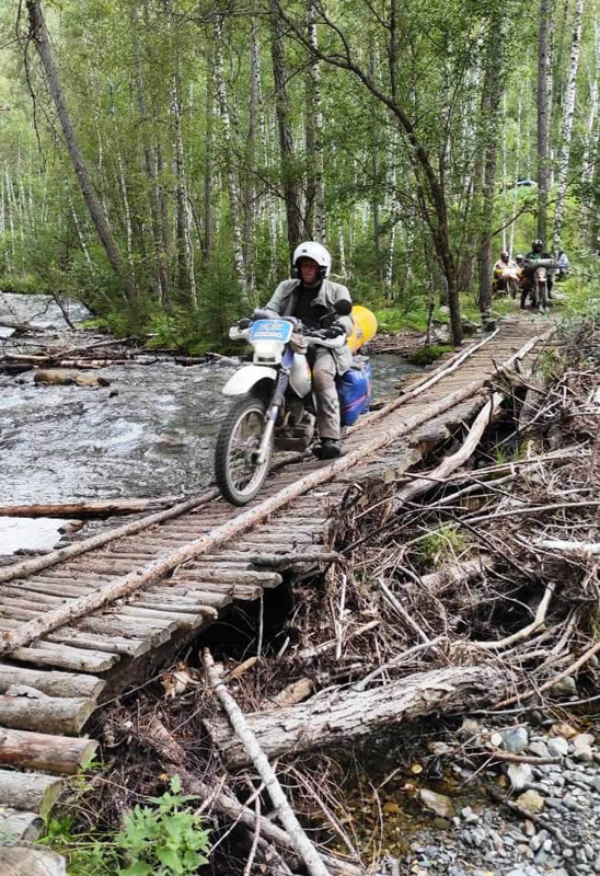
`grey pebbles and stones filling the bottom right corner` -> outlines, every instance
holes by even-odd
[[[451,740],[454,745],[449,745],[442,756],[443,769],[453,771],[457,777],[463,772],[459,764],[465,763],[470,746],[481,745],[485,739],[512,753],[527,752],[561,761],[554,764],[506,763],[501,768],[496,761],[487,772],[484,768],[481,775],[474,763],[473,773],[468,774],[475,781],[459,787],[455,794],[452,792],[452,799],[422,787],[418,791],[422,804],[432,803],[430,808],[436,814],[443,810],[446,819],[426,815],[430,828],[419,830],[415,837],[418,842],[412,844],[405,860],[399,858],[400,873],[407,876],[587,876],[595,873],[600,876],[600,745],[597,746],[596,737],[577,733],[566,723],[553,724],[550,728],[549,722],[535,728],[531,725],[494,728],[494,733],[484,724],[465,722],[461,735],[469,735],[471,739],[462,754],[457,752],[455,740]],[[441,748],[446,744],[439,745]],[[541,812],[542,823],[533,821],[533,817],[508,812],[486,799],[480,780],[484,784],[495,783],[519,807],[529,808],[532,816]],[[457,787],[454,777],[453,781]],[[552,832],[543,828],[543,821]],[[390,876],[390,869],[382,868],[378,876]]]

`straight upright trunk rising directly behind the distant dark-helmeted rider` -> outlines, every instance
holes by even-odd
[[[554,4],[540,0],[538,43],[538,237],[545,242],[550,189],[550,118],[552,107],[552,34]]]

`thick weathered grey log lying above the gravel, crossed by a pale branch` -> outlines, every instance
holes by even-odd
[[[268,758],[290,751],[347,746],[383,727],[437,712],[463,710],[488,701],[504,689],[499,669],[459,666],[418,672],[366,692],[339,691],[290,708],[246,715],[258,745]],[[231,766],[247,759],[229,722],[207,719],[206,727]]]

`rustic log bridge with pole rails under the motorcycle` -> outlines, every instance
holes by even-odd
[[[362,417],[343,458],[288,460],[246,508],[212,489],[0,568],[0,842],[39,834],[95,751],[79,734],[103,702],[232,602],[326,560],[348,486],[400,477],[483,407],[498,371],[531,371],[552,332],[504,321]]]

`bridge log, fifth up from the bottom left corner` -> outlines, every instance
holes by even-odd
[[[36,693],[33,688],[24,690]],[[37,693],[36,699],[0,694],[0,727],[72,736],[81,730],[96,707],[96,701],[91,698],[46,696]]]

